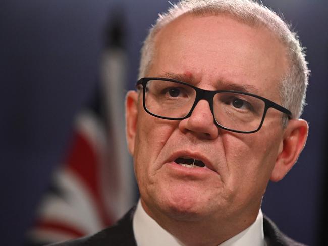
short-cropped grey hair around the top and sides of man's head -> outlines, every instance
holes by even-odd
[[[248,25],[267,28],[284,44],[289,68],[282,75],[279,85],[281,104],[292,112],[292,118],[300,117],[309,78],[305,52],[297,34],[274,11],[252,0],[182,0],[171,5],[166,13],[159,14],[155,25],[149,30],[141,49],[139,78],[146,76],[151,66],[156,34],[168,23],[186,13],[196,16],[226,14]]]

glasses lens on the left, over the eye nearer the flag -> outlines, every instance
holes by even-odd
[[[158,116],[183,118],[189,113],[195,98],[196,91],[180,83],[150,80],[146,85],[145,106]]]

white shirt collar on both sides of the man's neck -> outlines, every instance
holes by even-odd
[[[138,246],[183,246],[173,235],[157,224],[143,209],[139,200],[133,217],[133,232]],[[255,222],[218,246],[265,246],[263,214],[258,212]]]

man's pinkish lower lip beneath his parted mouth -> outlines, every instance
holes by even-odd
[[[183,175],[183,176],[204,176],[204,175],[210,175],[210,174],[217,174],[217,172],[214,172],[207,167],[195,167],[195,168],[190,168],[190,167],[184,167],[181,166],[175,162],[168,162],[165,164],[169,170],[173,171],[174,174],[177,175]]]

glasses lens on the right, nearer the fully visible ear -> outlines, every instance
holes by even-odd
[[[221,126],[251,132],[261,124],[265,103],[256,97],[230,92],[217,93],[213,98],[215,120]]]

